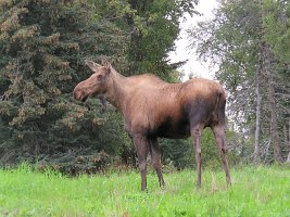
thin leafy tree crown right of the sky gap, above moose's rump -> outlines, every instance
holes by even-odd
[[[255,1],[228,1],[215,11],[216,22],[202,22],[189,30],[191,46],[202,60],[218,64],[216,77],[231,92],[243,90],[249,78],[254,80],[260,16]]]

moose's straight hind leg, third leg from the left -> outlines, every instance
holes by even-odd
[[[196,152],[196,163],[197,163],[197,171],[198,171],[198,180],[197,186],[201,187],[201,130],[202,126],[197,125],[191,127],[190,133],[193,141],[193,148]]]

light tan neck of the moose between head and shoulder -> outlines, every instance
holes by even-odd
[[[111,82],[105,93],[106,100],[118,111],[123,112],[126,95],[129,92],[128,78],[111,68]]]

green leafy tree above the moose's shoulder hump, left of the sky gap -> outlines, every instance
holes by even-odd
[[[171,80],[176,64],[168,63],[168,52],[174,50],[179,22],[185,13],[193,15],[197,0],[127,1],[127,25],[130,29],[128,60],[131,73],[152,72]]]

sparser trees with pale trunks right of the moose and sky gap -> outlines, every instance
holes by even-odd
[[[290,162],[290,2],[222,1],[214,15],[189,38],[218,65],[240,135],[232,148],[251,162]]]

